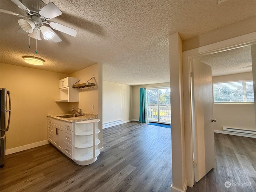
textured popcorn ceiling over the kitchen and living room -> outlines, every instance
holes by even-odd
[[[63,14],[51,21],[76,29],[77,36],[55,31],[62,42],[38,41],[38,54],[34,54],[35,40],[31,39],[28,49],[28,36],[17,32],[19,18],[1,13],[2,63],[64,74],[101,63],[106,81],[129,85],[169,82],[169,34],[179,32],[186,40],[256,15],[256,1],[244,0],[220,5],[217,0],[52,2]],[[0,6],[25,15],[9,0],[0,0]],[[23,61],[25,55],[46,62],[31,66]],[[219,64],[213,73],[223,72],[222,66]]]

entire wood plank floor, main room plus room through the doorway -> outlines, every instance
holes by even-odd
[[[256,139],[216,133],[214,139],[215,168],[187,192],[256,192]],[[50,144],[10,154],[1,168],[0,190],[170,192],[170,128],[138,122],[107,128],[103,146],[89,166],[77,165]]]

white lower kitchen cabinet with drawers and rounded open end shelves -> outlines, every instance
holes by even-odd
[[[79,165],[89,165],[97,160],[99,119],[76,123],[48,117],[48,141]]]

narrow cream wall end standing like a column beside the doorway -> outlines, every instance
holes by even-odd
[[[172,108],[172,186],[171,192],[187,188],[184,142],[182,40],[178,33],[169,36],[170,88]]]

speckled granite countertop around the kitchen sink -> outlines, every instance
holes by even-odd
[[[92,120],[92,119],[98,119],[98,114],[95,114],[95,113],[83,113],[82,116],[69,117],[69,118],[58,117],[60,115],[70,115],[70,114],[74,114],[74,113],[49,114],[47,116],[52,117],[52,118],[56,118],[56,119],[60,119],[60,120],[64,120],[64,121],[67,121],[67,122],[71,122],[71,123],[79,122],[79,121]]]

